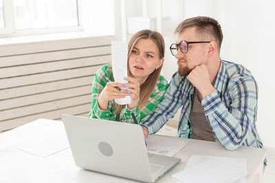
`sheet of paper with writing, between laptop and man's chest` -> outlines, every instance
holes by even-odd
[[[172,136],[148,135],[146,137],[147,152],[164,156],[175,156],[182,147],[189,142],[185,138],[175,138]]]

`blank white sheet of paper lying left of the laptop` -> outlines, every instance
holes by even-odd
[[[3,135],[13,147],[41,157],[69,147],[62,121],[37,119]]]

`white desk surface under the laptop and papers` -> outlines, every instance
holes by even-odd
[[[0,182],[137,182],[80,169],[74,164],[70,149],[41,158],[13,147],[1,147],[4,134],[0,135]],[[246,182],[261,182],[263,160],[266,153],[267,149],[252,147],[240,147],[236,151],[228,151],[219,143],[190,139],[190,142],[175,155],[175,157],[181,158],[181,162],[157,182],[177,182],[170,176],[183,170],[192,154],[247,158],[248,175]]]

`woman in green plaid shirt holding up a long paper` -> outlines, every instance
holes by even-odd
[[[133,123],[162,101],[168,82],[160,75],[164,62],[164,39],[158,32],[137,32],[128,45],[128,86],[113,81],[111,64],[103,65],[94,78],[89,117]],[[107,79],[106,79],[107,77]],[[115,88],[118,86],[121,90]],[[118,105],[113,99],[130,95],[131,103]]]

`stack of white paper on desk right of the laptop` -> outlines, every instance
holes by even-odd
[[[209,158],[206,158],[209,157]],[[204,160],[202,160],[204,158]],[[246,160],[242,158],[211,158],[210,156],[191,156],[191,166],[188,161],[183,171],[175,173],[172,178],[181,182],[235,182],[245,178],[247,171],[242,169]],[[197,160],[201,160],[197,162]],[[221,160],[221,161],[220,161]],[[194,162],[197,162],[194,164]],[[224,162],[231,162],[224,163]],[[244,163],[245,162],[245,163]],[[232,165],[235,163],[234,165]],[[241,168],[242,167],[242,168]]]

